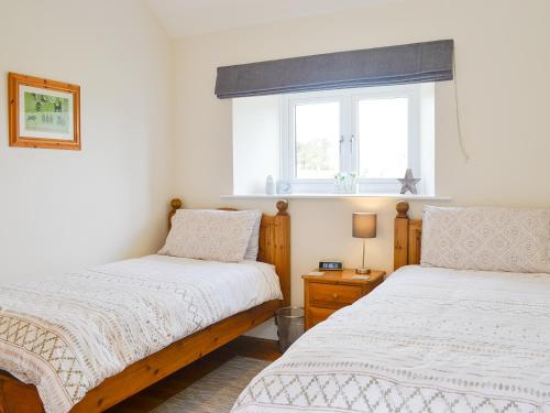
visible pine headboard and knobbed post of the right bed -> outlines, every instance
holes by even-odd
[[[395,208],[394,271],[403,265],[419,264],[422,242],[422,220],[409,219],[409,204],[400,200]]]

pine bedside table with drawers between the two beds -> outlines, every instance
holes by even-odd
[[[323,275],[302,275],[305,328],[324,320],[337,309],[353,304],[384,281],[384,271],[372,270],[369,280],[353,279],[355,270],[324,271]]]

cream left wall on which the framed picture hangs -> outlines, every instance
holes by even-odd
[[[169,39],[140,1],[0,10],[0,280],[153,252],[170,195]],[[81,152],[9,148],[8,72],[80,85]]]

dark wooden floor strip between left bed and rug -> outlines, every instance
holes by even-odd
[[[235,356],[274,361],[280,357],[280,352],[276,341],[246,336],[239,337],[107,412],[148,413]]]

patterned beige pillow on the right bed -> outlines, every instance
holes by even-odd
[[[550,211],[427,206],[420,263],[457,270],[550,273]]]

